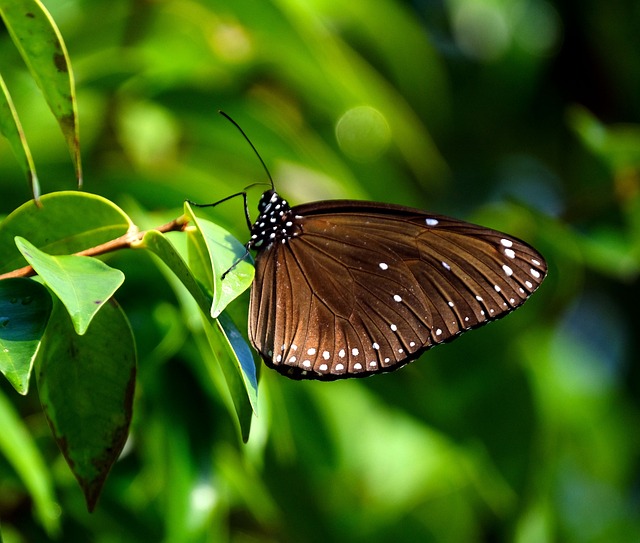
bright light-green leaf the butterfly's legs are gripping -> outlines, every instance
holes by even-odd
[[[190,250],[197,253],[191,258],[196,277],[205,285],[212,285],[213,303],[211,316],[218,317],[225,307],[247,290],[253,281],[254,267],[247,261],[249,255],[244,245],[227,230],[217,224],[198,218],[185,202],[185,215],[200,235],[190,234]],[[204,242],[204,245],[202,244]],[[225,275],[224,281],[222,275]]]

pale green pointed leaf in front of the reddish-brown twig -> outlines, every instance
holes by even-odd
[[[124,273],[88,256],[51,256],[19,236],[16,245],[67,308],[79,335],[124,282]]]

